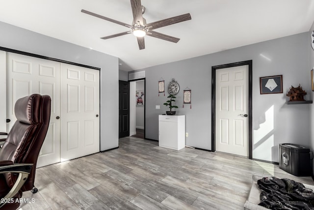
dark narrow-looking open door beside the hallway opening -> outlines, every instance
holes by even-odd
[[[119,138],[130,136],[130,86],[119,80]]]

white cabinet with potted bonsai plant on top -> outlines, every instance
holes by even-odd
[[[159,147],[185,147],[185,115],[159,115]]]

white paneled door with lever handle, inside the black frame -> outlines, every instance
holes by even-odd
[[[216,151],[248,156],[248,65],[216,69],[215,113]]]

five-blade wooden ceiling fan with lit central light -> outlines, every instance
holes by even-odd
[[[167,18],[164,20],[156,21],[153,23],[146,24],[146,20],[143,18],[143,14],[145,12],[145,7],[142,6],[141,0],[131,0],[131,7],[132,7],[132,13],[133,13],[133,23],[132,25],[122,23],[120,21],[113,20],[111,18],[104,17],[102,15],[87,11],[85,9],[82,9],[81,12],[86,13],[88,15],[95,16],[97,18],[104,19],[106,21],[119,24],[121,26],[125,26],[130,28],[129,31],[125,31],[122,33],[113,34],[110,36],[104,36],[101,37],[102,39],[109,39],[117,36],[126,35],[129,33],[133,33],[137,38],[138,47],[140,50],[145,49],[145,42],[144,42],[144,36],[153,36],[155,38],[163,39],[166,41],[177,43],[180,38],[169,36],[163,33],[159,33],[157,31],[154,31],[155,29],[169,26],[172,24],[180,23],[183,21],[191,20],[190,13],[186,13],[184,15],[179,15],[172,18]]]

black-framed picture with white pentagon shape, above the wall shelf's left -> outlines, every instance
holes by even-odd
[[[283,93],[283,75],[260,77],[261,94]]]

